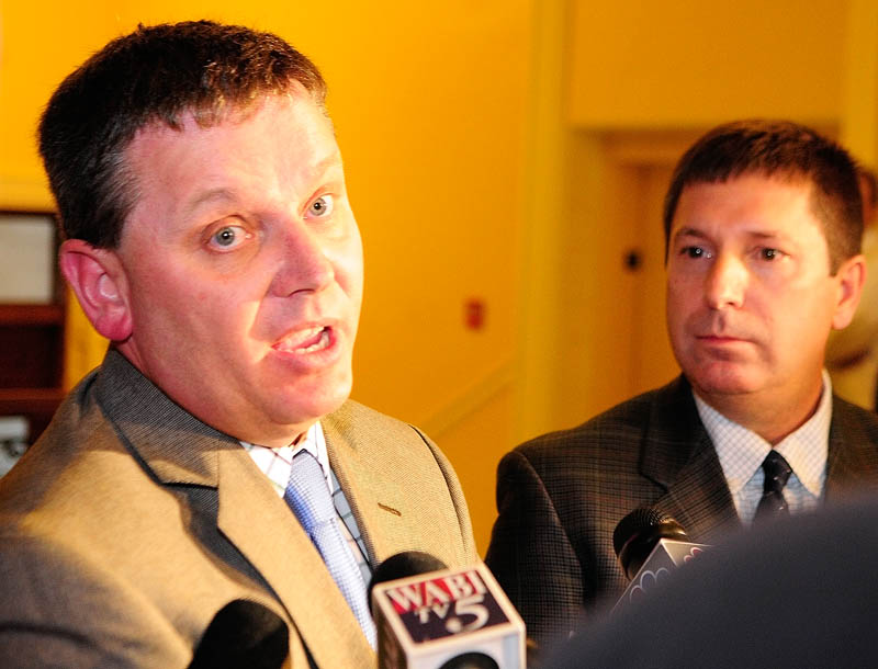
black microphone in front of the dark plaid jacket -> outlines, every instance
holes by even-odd
[[[630,580],[612,609],[615,613],[655,588],[672,569],[694,559],[708,546],[690,543],[683,526],[664,511],[641,507],[616,525],[612,547]]]

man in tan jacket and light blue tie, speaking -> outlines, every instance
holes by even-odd
[[[61,272],[112,343],[0,484],[0,664],[183,667],[279,620],[292,666],[367,667],[375,564],[475,562],[441,453],[346,401],[362,250],[325,93],[279,37],[190,22],[49,101]]]

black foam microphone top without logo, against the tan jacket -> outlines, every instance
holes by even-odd
[[[189,669],[278,669],[289,653],[286,623],[262,604],[236,599],[213,616]]]

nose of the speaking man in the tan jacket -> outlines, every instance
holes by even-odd
[[[328,242],[301,220],[284,227],[281,259],[272,283],[275,295],[301,291],[319,292],[335,279],[327,256]]]

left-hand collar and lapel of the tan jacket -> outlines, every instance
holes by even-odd
[[[158,483],[217,490],[218,530],[268,582],[317,665],[374,664],[316,548],[241,445],[182,410],[115,351],[98,384],[123,443]]]

